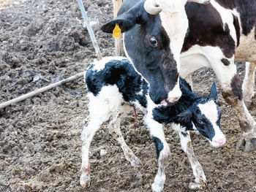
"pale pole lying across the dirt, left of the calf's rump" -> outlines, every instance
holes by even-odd
[[[72,81],[72,80],[76,80],[76,79],[78,79],[78,78],[80,78],[80,77],[83,77],[83,74],[84,74],[84,72],[80,72],[80,73],[78,73],[78,74],[73,75],[72,77],[68,77],[67,79],[61,80],[61,81],[59,81],[59,82],[54,82],[53,84],[50,84],[50,85],[48,85],[48,86],[46,86],[46,87],[44,87],[44,88],[39,88],[39,89],[37,89],[37,90],[35,90],[35,91],[32,91],[32,92],[30,92],[30,93],[26,93],[26,94],[23,95],[23,96],[19,96],[19,97],[15,98],[15,99],[12,99],[12,100],[10,100],[10,101],[6,101],[6,102],[0,104],[0,110],[1,110],[1,109],[4,109],[4,107],[7,107],[7,106],[9,106],[9,105],[11,105],[11,104],[18,103],[19,101],[23,101],[23,100],[28,99],[28,98],[30,98],[30,97],[32,97],[32,96],[36,96],[36,95],[38,95],[39,93],[43,93],[43,92],[45,92],[45,91],[48,91],[48,90],[51,89],[51,88],[55,88],[55,87],[58,86],[58,85],[63,85],[63,84],[66,83],[66,82],[70,82],[70,81]]]

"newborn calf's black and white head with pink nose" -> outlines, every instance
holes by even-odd
[[[195,103],[188,110],[181,113],[180,118],[187,121],[191,129],[198,131],[214,147],[220,147],[225,144],[225,135],[220,128],[221,112],[215,103],[217,99],[217,88],[214,82],[211,93],[208,97],[196,99]]]

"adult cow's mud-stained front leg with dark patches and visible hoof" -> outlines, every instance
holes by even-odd
[[[219,61],[222,62],[211,66],[217,74],[223,98],[236,110],[242,131],[241,139],[236,147],[238,149],[245,145],[245,151],[255,150],[256,123],[244,104],[241,80],[236,73],[236,65],[232,59],[222,58]]]

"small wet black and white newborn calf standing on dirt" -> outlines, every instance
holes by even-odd
[[[197,131],[206,137],[214,147],[225,144],[225,135],[220,129],[221,112],[215,103],[217,99],[216,84],[207,97],[197,96],[191,91],[189,84],[182,78],[179,80],[181,98],[176,104],[163,106],[154,104],[148,96],[148,82],[143,79],[127,58],[109,57],[92,64],[85,74],[89,96],[89,123],[83,128],[81,139],[82,166],[80,185],[90,184],[89,147],[95,132],[102,123],[108,122],[110,134],[120,143],[127,160],[133,165],[140,160],[127,146],[120,131],[121,117],[137,107],[147,109],[146,126],[154,139],[159,170],[152,185],[153,191],[162,191],[165,183],[165,164],[169,147],[165,136],[159,132],[162,124],[174,123],[173,129],[178,131],[181,147],[189,158],[195,175],[195,183],[189,188],[201,188],[206,183],[206,176],[195,158],[189,131]]]

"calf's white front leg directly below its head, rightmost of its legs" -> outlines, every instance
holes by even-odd
[[[189,131],[178,131],[178,135],[181,139],[181,148],[187,154],[195,176],[195,183],[189,183],[189,188],[191,190],[203,189],[203,186],[206,185],[206,175],[203,172],[202,166],[195,158]]]

